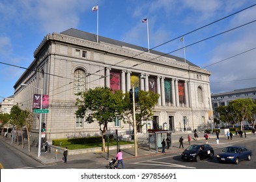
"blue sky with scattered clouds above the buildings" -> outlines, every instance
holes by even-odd
[[[96,5],[100,36],[147,48],[147,23],[141,19],[148,18],[150,49],[186,57],[210,71],[212,94],[255,87],[255,4],[249,0],[1,0],[0,101],[14,94],[14,84],[33,62],[46,34],[70,28],[96,34],[97,12],[92,11]]]

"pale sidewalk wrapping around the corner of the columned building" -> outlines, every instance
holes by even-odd
[[[184,151],[185,148],[188,147],[188,140],[187,136],[190,135],[191,138],[193,138],[193,133],[173,133],[171,135],[172,137],[172,147],[169,149],[165,149],[165,153],[174,153],[179,155],[182,151]],[[193,140],[191,141],[191,144],[205,144],[205,138],[203,137],[204,133],[199,133],[199,138],[197,138],[197,141]],[[180,136],[183,136],[184,138],[184,149],[178,148],[179,147],[179,142],[178,138]],[[221,136],[220,137],[224,137]],[[19,151],[25,153],[29,157],[33,157],[36,161],[41,162],[42,164],[52,164],[55,162],[63,162],[63,148],[56,148],[55,146],[51,146],[51,153],[44,153],[44,148],[42,148],[42,152],[40,157],[38,158],[38,148],[36,146],[31,147],[31,151],[28,151],[28,146],[27,144],[24,145],[24,148],[22,148],[21,143],[19,146],[17,144],[12,144],[11,138],[1,138],[0,140],[4,141],[5,144],[8,144],[9,146],[13,146],[14,148],[18,149]],[[216,144],[216,135],[215,133],[209,134],[209,140],[208,140],[210,145]],[[134,156],[134,145],[128,146],[128,148],[125,148],[125,146],[121,146],[120,148],[122,149],[123,152],[123,158],[124,160],[127,159],[132,159],[136,158]],[[55,152],[57,149],[57,153]],[[85,151],[86,149],[82,150],[72,150],[69,151],[68,155],[68,161],[74,161],[74,160],[91,160],[94,159],[97,162],[102,162],[102,160],[110,160],[111,158],[114,158],[115,155],[117,154],[117,148],[115,147],[114,149],[109,149],[109,159],[107,159],[107,152],[102,152],[100,151],[100,148],[90,150],[90,151]],[[88,149],[87,149],[88,150]],[[79,153],[79,154],[75,154]],[[162,155],[161,149],[158,150],[158,153],[156,153],[155,150],[149,151],[149,145],[148,144],[143,144],[140,143],[138,144],[137,148],[137,157],[147,157],[150,155]]]

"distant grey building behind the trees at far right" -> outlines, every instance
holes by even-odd
[[[231,92],[223,92],[219,94],[212,94],[212,109],[214,111],[214,118],[216,118],[217,124],[220,124],[220,116],[217,112],[219,106],[227,106],[230,101],[235,99],[251,98],[256,99],[256,87],[253,88],[242,88],[233,90]]]

